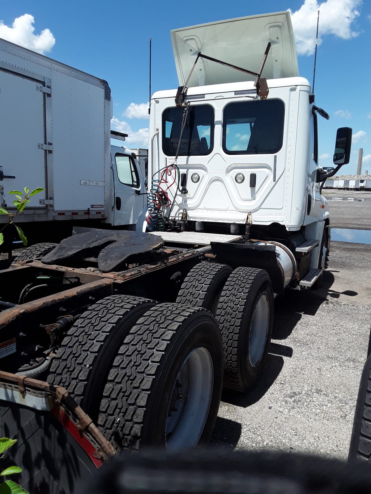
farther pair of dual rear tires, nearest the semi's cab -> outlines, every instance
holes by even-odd
[[[187,275],[178,303],[210,310],[223,339],[225,388],[245,392],[257,381],[272,337],[274,294],[264,269],[201,262]]]

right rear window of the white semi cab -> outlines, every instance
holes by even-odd
[[[279,99],[239,101],[223,114],[223,151],[275,154],[282,147],[284,104]]]

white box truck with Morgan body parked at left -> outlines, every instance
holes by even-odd
[[[110,146],[125,135],[110,131],[107,82],[0,40],[0,115],[1,205],[15,212],[10,190],[45,188],[17,214],[25,233],[32,223],[38,238],[61,240],[73,220],[142,224],[145,179],[130,150]]]

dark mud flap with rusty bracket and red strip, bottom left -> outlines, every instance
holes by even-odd
[[[30,493],[76,493],[115,453],[90,417],[64,388],[0,371],[1,437],[17,442],[3,468],[17,465],[12,479]]]

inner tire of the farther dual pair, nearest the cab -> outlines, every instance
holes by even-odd
[[[232,269],[225,264],[200,262],[182,283],[177,303],[208,309],[215,315],[220,294]]]

